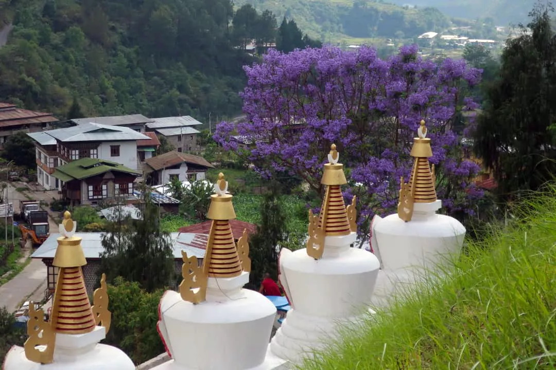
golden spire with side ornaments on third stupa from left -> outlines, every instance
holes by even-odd
[[[326,194],[320,214],[314,216],[312,211],[309,211],[307,254],[316,260],[322,257],[326,236],[350,235],[357,231],[356,197],[346,209],[340,185],[347,184],[347,180],[344,175],[344,165],[338,163],[339,159],[340,154],[336,150],[336,144],[332,144],[328,154],[329,163],[324,165],[324,174],[322,174],[321,184],[326,185]]]

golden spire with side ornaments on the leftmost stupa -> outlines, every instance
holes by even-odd
[[[27,323],[29,338],[24,344],[25,355],[29,361],[51,363],[54,353],[56,333],[85,334],[91,332],[102,322],[106,330],[110,327],[110,312],[106,294],[106,277],[102,276],[101,288],[95,291],[95,315],[87,296],[81,266],[87,264],[81,238],[73,236],[76,224],[68,211],[59,226],[58,247],[52,265],[59,267],[58,281],[54,291],[50,321],[44,321],[42,310],[35,310],[29,302],[30,320]],[[37,346],[44,346],[39,349]]]

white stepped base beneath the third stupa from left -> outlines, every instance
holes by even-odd
[[[339,336],[339,331],[350,326],[358,326],[368,313],[348,318],[324,318],[305,315],[290,310],[270,342],[271,353],[294,364],[300,364],[305,358],[314,356],[315,351],[324,349],[327,344]]]

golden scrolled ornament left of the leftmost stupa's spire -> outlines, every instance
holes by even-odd
[[[49,322],[44,321],[43,310],[35,310],[34,302],[29,302],[29,321],[27,321],[27,341],[23,344],[25,357],[36,363],[52,363],[56,334]],[[39,349],[37,346],[44,346]]]

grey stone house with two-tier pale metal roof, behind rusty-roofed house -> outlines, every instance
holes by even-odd
[[[200,134],[200,131],[195,127],[201,125],[201,122],[188,115],[153,118],[153,122],[146,124],[147,131],[165,136],[168,143],[179,152],[197,152],[199,150],[197,134]]]

